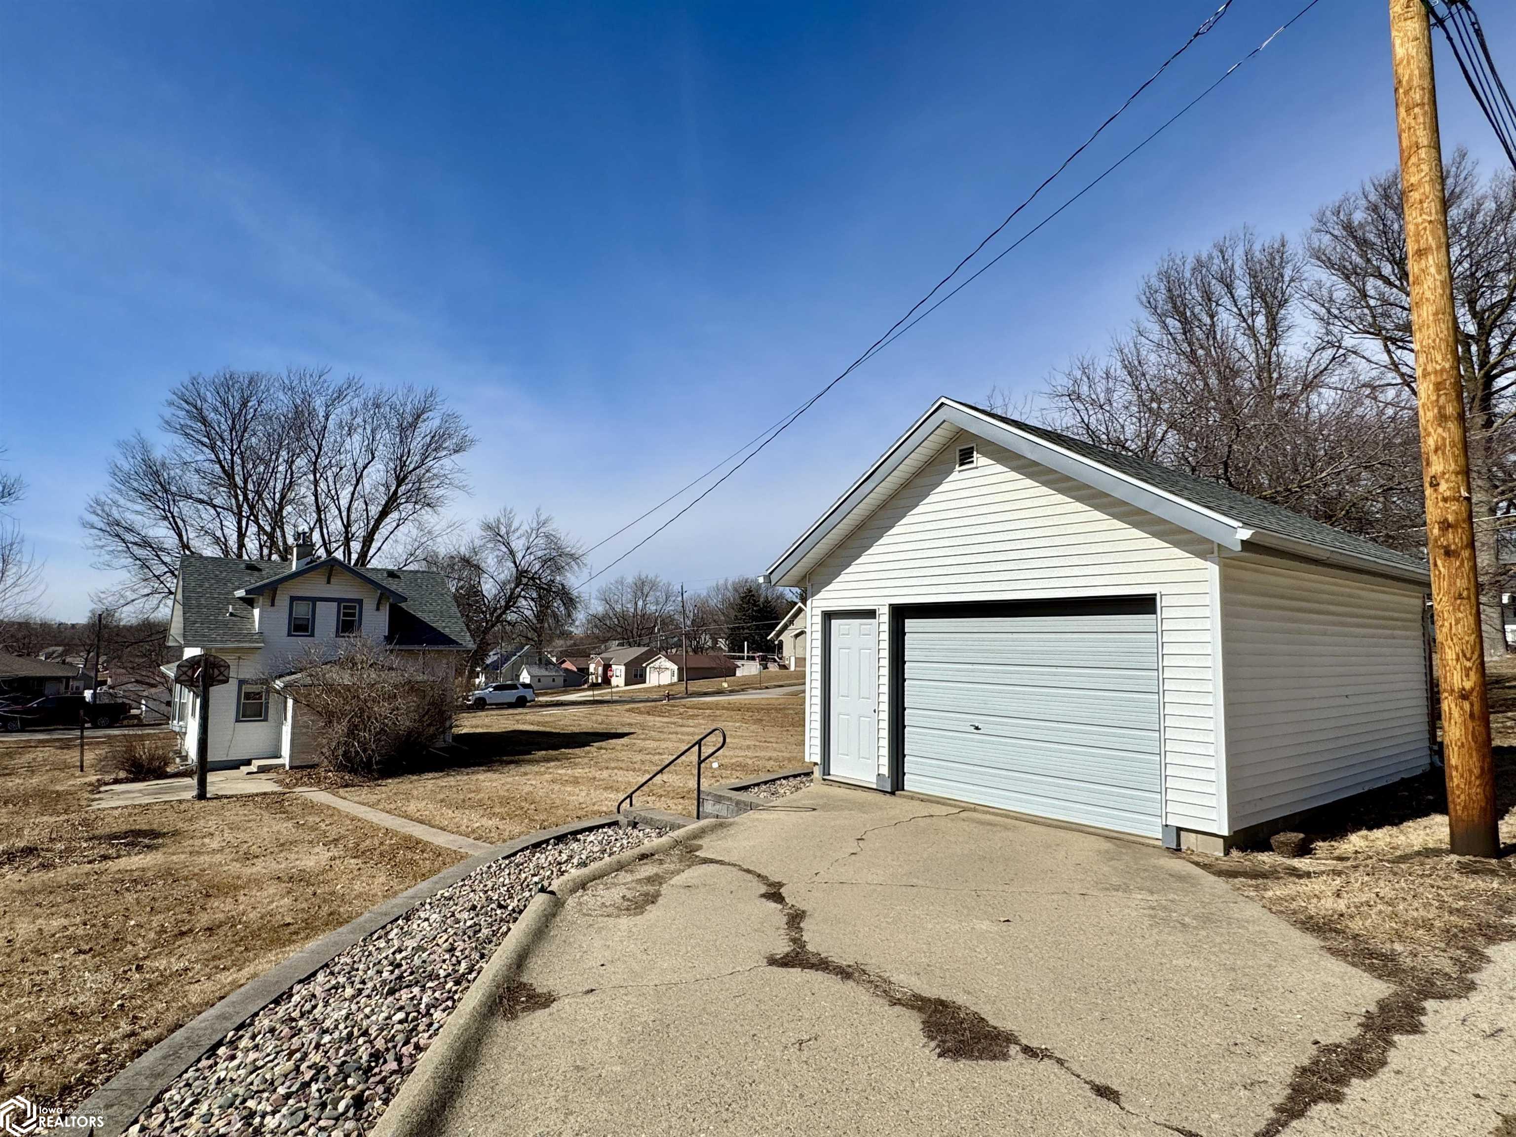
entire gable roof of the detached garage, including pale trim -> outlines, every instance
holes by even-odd
[[[870,470],[769,568],[775,584],[803,584],[805,572],[846,540],[958,432],[1057,470],[1187,529],[1240,550],[1267,546],[1346,568],[1425,582],[1427,562],[1314,522],[1205,478],[1117,453],[1069,435],[1007,418],[957,399],[938,399]]]

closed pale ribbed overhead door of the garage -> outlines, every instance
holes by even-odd
[[[907,790],[1161,835],[1151,611],[907,619],[904,709]]]

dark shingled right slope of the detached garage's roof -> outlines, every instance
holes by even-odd
[[[1240,493],[1231,487],[1222,485],[1220,482],[1213,482],[1208,478],[1184,473],[1182,470],[1160,465],[1158,462],[1149,462],[1145,458],[1120,453],[1119,450],[1107,450],[1102,446],[1072,438],[1070,435],[1060,434],[1058,431],[1049,431],[1046,426],[1034,426],[1032,423],[1023,423],[1017,418],[1007,418],[1005,415],[994,414],[982,406],[975,406],[973,409],[988,415],[990,418],[1002,421],[1007,426],[1014,426],[1017,431],[1025,431],[1026,434],[1041,438],[1043,441],[1060,446],[1064,450],[1072,450],[1081,458],[1088,458],[1090,461],[1099,462],[1101,465],[1116,470],[1117,473],[1134,478],[1139,482],[1146,482],[1158,490],[1172,493],[1175,497],[1182,497],[1187,502],[1193,502],[1205,509],[1229,517],[1243,526],[1263,529],[1264,532],[1290,537],[1298,541],[1307,541],[1308,544],[1349,553],[1352,556],[1369,556],[1377,561],[1389,561],[1390,564],[1396,564],[1404,568],[1422,573],[1427,572],[1427,561],[1420,556],[1407,556],[1395,549],[1386,549],[1383,544],[1377,544],[1363,537],[1355,537],[1349,532],[1343,532],[1342,529],[1334,529],[1330,525],[1311,520],[1305,514],[1298,514],[1293,509],[1286,509],[1284,506],[1273,505],[1272,502],[1264,502],[1260,497]]]

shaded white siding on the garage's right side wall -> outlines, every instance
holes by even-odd
[[[1220,579],[1234,831],[1427,769],[1420,588],[1261,556]]]

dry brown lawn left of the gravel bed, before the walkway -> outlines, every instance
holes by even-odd
[[[459,858],[268,794],[89,810],[108,738],[0,738],[0,1098],[76,1105],[300,946]]]

